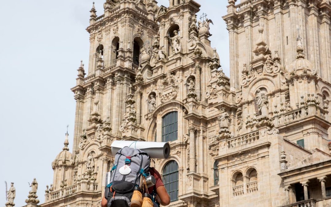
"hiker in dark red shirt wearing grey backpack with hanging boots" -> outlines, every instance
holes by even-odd
[[[108,174],[102,207],[154,207],[170,203],[161,175],[150,167],[150,156],[140,149],[118,150]]]

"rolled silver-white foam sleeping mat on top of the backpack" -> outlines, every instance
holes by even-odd
[[[146,152],[153,159],[166,159],[170,155],[170,145],[168,142],[146,142],[146,141],[113,141],[112,155],[115,156],[118,150],[123,147],[140,149]]]

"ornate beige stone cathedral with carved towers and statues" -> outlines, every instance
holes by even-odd
[[[152,161],[169,206],[331,206],[330,3],[228,0],[230,78],[196,1],[93,5],[72,153],[41,206],[100,206],[118,139],[169,141]]]

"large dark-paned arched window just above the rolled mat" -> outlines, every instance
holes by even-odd
[[[162,141],[177,140],[178,137],[178,113],[176,111],[166,114],[162,118]]]

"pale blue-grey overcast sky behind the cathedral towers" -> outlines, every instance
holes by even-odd
[[[81,59],[87,68],[85,28],[92,1],[0,0],[0,206],[6,202],[4,181],[15,182],[19,207],[25,205],[33,178],[43,203],[45,186],[53,181],[51,162],[63,148],[67,124],[72,147],[75,100],[70,88]],[[97,15],[103,14],[105,0],[94,1]],[[221,18],[227,1],[197,1],[213,20],[210,40],[228,75],[228,32]],[[168,0],[159,0],[161,4],[169,5]]]

